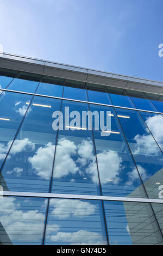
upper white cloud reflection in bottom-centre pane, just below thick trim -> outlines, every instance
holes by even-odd
[[[93,214],[96,210],[96,205],[89,202],[72,199],[51,199],[52,211],[59,219],[65,219],[70,216],[85,217]]]

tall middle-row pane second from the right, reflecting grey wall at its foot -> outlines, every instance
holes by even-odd
[[[159,199],[159,182],[163,180],[162,152],[137,111],[117,108],[116,112],[118,115],[128,115],[130,117],[128,119],[119,118],[122,129],[148,196]],[[135,178],[135,174],[132,173],[130,181],[135,181]]]

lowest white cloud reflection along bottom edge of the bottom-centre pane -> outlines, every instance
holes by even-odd
[[[87,230],[79,230],[76,232],[58,232],[56,235],[51,236],[54,242],[68,242],[71,245],[105,245],[106,241],[103,236],[96,232]]]

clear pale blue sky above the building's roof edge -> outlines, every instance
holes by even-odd
[[[0,0],[3,51],[163,81],[162,0]]]

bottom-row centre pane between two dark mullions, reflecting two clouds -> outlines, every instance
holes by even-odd
[[[106,245],[102,203],[50,199],[45,245]]]

